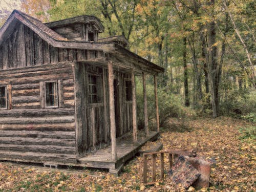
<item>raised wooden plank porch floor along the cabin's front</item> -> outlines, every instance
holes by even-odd
[[[116,145],[116,160],[112,158],[111,145],[97,150],[95,153],[86,155],[78,159],[78,166],[94,167],[94,168],[107,168],[109,172],[118,175],[123,167],[123,164],[134,157],[140,148],[147,141],[154,141],[157,139],[159,132],[150,132],[145,136],[144,132],[137,133],[137,142],[132,142],[133,135],[129,134],[126,137],[117,140]]]

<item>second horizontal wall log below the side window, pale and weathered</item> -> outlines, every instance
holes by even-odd
[[[48,116],[48,117],[20,117],[20,118],[13,118],[13,117],[2,117],[0,119],[0,124],[37,124],[37,123],[69,123],[74,122],[75,117],[72,116]]]

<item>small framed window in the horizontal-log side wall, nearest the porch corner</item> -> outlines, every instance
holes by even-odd
[[[58,106],[57,82],[46,82],[46,106]]]

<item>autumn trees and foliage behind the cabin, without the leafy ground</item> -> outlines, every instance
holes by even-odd
[[[22,11],[43,22],[99,17],[105,27],[101,38],[123,35],[128,49],[165,69],[158,81],[160,100],[169,103],[163,105],[179,104],[178,108],[214,118],[255,116],[255,5],[250,0],[22,0],[20,4]],[[8,14],[2,15],[3,25]],[[152,79],[147,81],[153,84]]]

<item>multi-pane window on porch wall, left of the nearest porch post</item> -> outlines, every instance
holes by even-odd
[[[101,103],[100,76],[89,75],[89,103]]]

